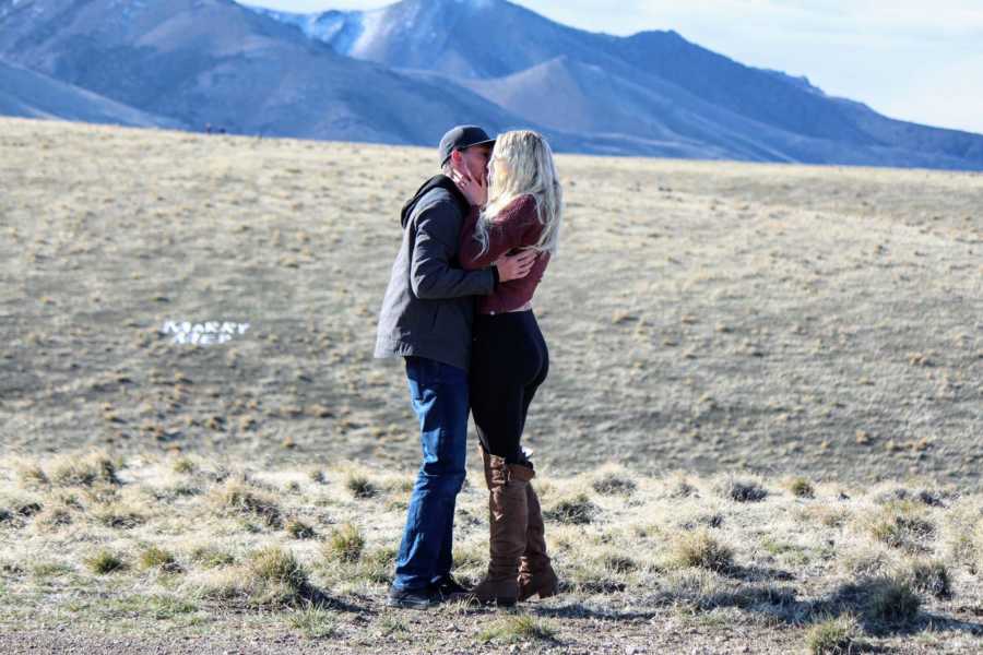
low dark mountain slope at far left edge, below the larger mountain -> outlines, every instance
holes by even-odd
[[[183,127],[4,61],[0,61],[0,115],[140,128]]]

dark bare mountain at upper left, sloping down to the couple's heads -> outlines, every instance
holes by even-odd
[[[431,144],[459,122],[524,122],[232,0],[0,0],[0,58],[191,129]]]

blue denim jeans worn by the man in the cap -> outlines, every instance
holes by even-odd
[[[454,503],[464,483],[467,373],[423,357],[406,357],[410,400],[419,418],[423,464],[410,497],[392,586],[419,591],[453,563]]]

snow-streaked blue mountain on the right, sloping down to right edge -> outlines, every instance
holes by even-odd
[[[531,122],[617,141],[629,153],[660,142],[701,157],[983,169],[979,134],[892,120],[673,31],[595,34],[506,0],[256,11],[339,53],[446,79]]]

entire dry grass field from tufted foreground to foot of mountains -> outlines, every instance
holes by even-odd
[[[0,651],[983,650],[983,176],[924,170],[560,156],[565,594],[387,610],[418,442],[371,350],[433,158],[0,119]]]

